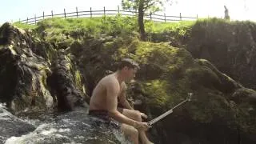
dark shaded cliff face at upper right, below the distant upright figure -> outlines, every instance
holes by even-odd
[[[256,89],[256,25],[254,22],[226,22],[212,18],[191,27],[187,50],[194,58],[212,62],[218,70]]]

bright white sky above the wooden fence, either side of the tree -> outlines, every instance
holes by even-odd
[[[256,22],[256,2],[254,0],[175,0],[174,5],[166,8],[166,15],[195,17],[198,18],[224,17],[224,5],[227,6],[232,20],[251,20]],[[34,18],[34,14],[42,16],[42,12],[50,14],[54,10],[54,14],[66,12],[74,12],[75,7],[78,10],[117,10],[118,5],[121,6],[122,0],[2,0],[0,8],[0,25],[4,22],[15,22],[19,18],[21,20]],[[163,13],[163,12],[162,12]]]

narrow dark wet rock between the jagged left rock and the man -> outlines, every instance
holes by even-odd
[[[52,71],[47,84],[51,95],[58,101],[58,110],[73,110],[74,106],[84,106],[86,94],[75,86],[70,59],[62,51],[55,59]]]

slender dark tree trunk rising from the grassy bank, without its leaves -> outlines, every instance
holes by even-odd
[[[146,32],[145,32],[145,28],[144,28],[144,1],[141,0],[139,2],[139,6],[138,6],[138,27],[139,27],[139,32],[141,34],[141,40],[142,41],[146,41]]]

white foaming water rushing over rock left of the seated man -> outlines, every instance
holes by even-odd
[[[103,124],[98,118],[89,117],[86,109],[64,114],[24,112],[20,115],[17,118],[0,105],[0,143],[130,143],[120,130]],[[11,125],[3,125],[6,122]]]

